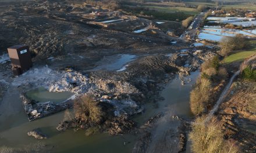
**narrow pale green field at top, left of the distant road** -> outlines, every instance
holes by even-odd
[[[198,11],[194,8],[183,8],[183,7],[165,7],[165,6],[144,6],[146,8],[150,8],[151,10],[157,10],[159,12],[166,13],[176,13],[183,12],[185,14],[197,14]]]

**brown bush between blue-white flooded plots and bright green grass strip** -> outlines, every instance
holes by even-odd
[[[223,37],[221,42],[221,54],[227,56],[233,50],[245,49],[248,47],[249,43],[243,35],[236,35],[235,37]]]

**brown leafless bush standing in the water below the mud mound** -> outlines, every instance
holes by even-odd
[[[76,119],[85,123],[98,123],[102,119],[101,108],[93,100],[91,95],[81,96],[74,101],[74,112]]]

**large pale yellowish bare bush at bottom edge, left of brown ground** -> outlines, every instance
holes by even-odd
[[[205,122],[206,116],[195,119],[189,138],[192,141],[191,148],[197,153],[236,153],[238,148],[223,139],[221,123],[214,117]]]

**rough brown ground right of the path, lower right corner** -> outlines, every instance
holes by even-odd
[[[235,140],[242,152],[256,150],[255,87],[255,82],[237,79],[217,112],[223,123],[226,139]]]

